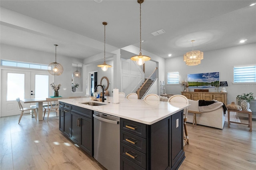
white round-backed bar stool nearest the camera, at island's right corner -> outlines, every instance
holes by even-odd
[[[168,102],[174,102],[174,103],[186,103],[189,104],[188,98],[186,96],[183,95],[173,95],[168,99]],[[188,132],[187,132],[187,127],[186,127],[186,121],[187,121],[187,117],[188,117],[188,108],[184,109],[183,112],[183,121],[184,121],[184,131],[185,131],[185,135],[184,135],[184,146],[185,144],[189,144],[188,141]]]

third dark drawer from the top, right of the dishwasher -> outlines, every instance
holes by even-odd
[[[120,154],[128,160],[146,169],[146,154],[139,152],[138,150],[120,143]]]

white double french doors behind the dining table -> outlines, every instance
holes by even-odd
[[[2,70],[1,89],[1,117],[19,115],[19,107],[16,98],[44,98],[50,96],[50,83],[54,76],[48,71],[30,71],[19,69]],[[23,107],[30,107],[35,103],[22,103]]]

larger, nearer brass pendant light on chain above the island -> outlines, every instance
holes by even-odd
[[[137,0],[137,1],[140,4],[140,54],[131,57],[131,60],[136,61],[138,65],[143,65],[145,61],[150,60],[150,57],[146,55],[142,55],[141,53],[142,52],[141,51],[141,4],[144,2],[144,0]]]

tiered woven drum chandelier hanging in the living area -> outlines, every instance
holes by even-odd
[[[194,41],[192,40],[192,51],[184,54],[183,60],[186,62],[186,65],[194,66],[201,63],[201,60],[204,59],[204,53],[202,51],[194,51]]]

